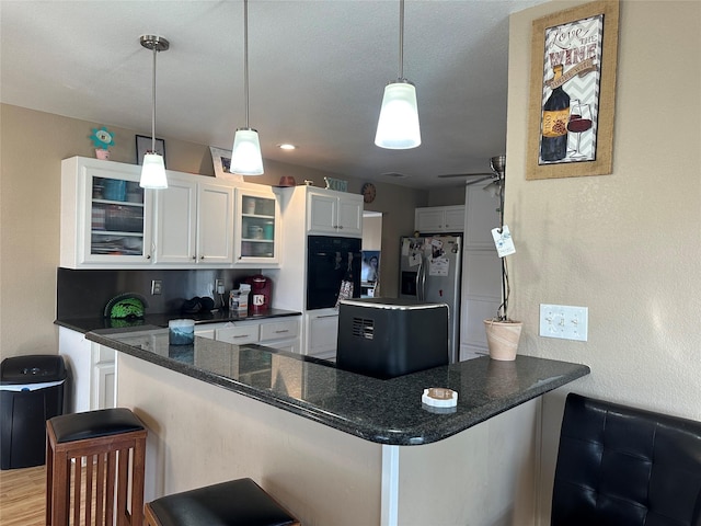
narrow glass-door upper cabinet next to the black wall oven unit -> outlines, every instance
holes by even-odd
[[[279,204],[272,188],[244,184],[235,188],[234,266],[279,266]]]

